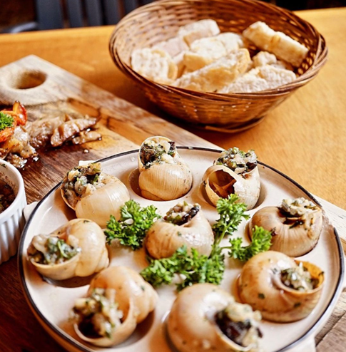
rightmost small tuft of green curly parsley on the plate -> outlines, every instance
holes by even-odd
[[[251,244],[242,247],[243,240],[241,238],[230,239],[230,257],[239,259],[241,262],[247,262],[250,258],[260,252],[265,252],[270,249],[272,235],[270,231],[263,229],[263,227],[255,226],[253,230],[253,239]]]

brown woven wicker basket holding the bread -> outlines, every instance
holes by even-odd
[[[193,21],[214,19],[221,32],[242,33],[255,21],[283,31],[309,48],[292,83],[258,93],[203,93],[150,81],[133,71],[131,53],[172,38],[178,28]],[[255,47],[253,48],[255,50]],[[327,61],[325,39],[292,12],[262,1],[161,0],[128,14],[111,36],[110,51],[116,66],[131,77],[146,96],[171,115],[210,130],[236,132],[259,123],[297,88],[314,78]],[[251,51],[251,48],[250,48]]]

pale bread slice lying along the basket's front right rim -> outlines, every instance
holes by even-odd
[[[271,65],[258,66],[218,90],[218,93],[254,93],[283,86],[295,78],[295,73],[289,70]]]

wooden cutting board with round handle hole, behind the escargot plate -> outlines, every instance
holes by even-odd
[[[101,118],[101,141],[39,150],[39,161],[21,172],[28,203],[40,200],[79,160],[136,149],[151,135],[165,135],[178,145],[215,147],[34,55],[0,68],[0,104],[12,105],[14,100],[26,106],[29,120],[63,109]]]

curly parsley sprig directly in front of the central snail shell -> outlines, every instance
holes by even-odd
[[[143,279],[157,287],[162,284],[171,284],[175,274],[182,274],[184,279],[177,284],[178,291],[203,282],[218,285],[225,271],[224,255],[221,254],[221,250],[207,257],[198,254],[196,249],[191,249],[188,254],[187,247],[183,246],[169,258],[149,259],[149,261],[149,266],[141,271]]]

